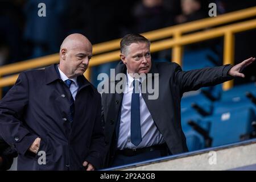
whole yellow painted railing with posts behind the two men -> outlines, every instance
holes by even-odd
[[[194,22],[184,23],[177,26],[162,28],[151,32],[146,32],[143,35],[150,39],[151,52],[162,51],[163,49],[172,48],[172,61],[181,65],[182,48],[191,43],[197,43],[204,40],[218,38],[224,36],[224,60],[223,64],[234,63],[234,34],[246,30],[256,28],[256,19],[246,20],[240,23],[231,22],[252,18],[256,16],[256,7],[249,9],[235,11],[224,15],[219,15],[214,18],[206,18]],[[221,24],[229,23],[229,25],[220,26]],[[214,27],[214,28],[213,28]],[[208,28],[207,30],[201,30]],[[191,31],[200,30],[199,32],[183,35]],[[93,58],[90,60],[89,68],[85,72],[85,76],[90,78],[90,67],[109,63],[111,61],[119,60],[119,42],[120,39],[112,40],[105,43],[93,45]],[[39,57],[19,63],[9,64],[0,67],[0,88],[4,86],[13,85],[22,71],[34,68],[43,68],[47,65],[58,63],[59,54]],[[15,75],[12,75],[15,74]],[[11,76],[6,76],[11,75]],[[5,76],[5,77],[3,77]],[[232,81],[225,82],[224,90],[231,88]]]

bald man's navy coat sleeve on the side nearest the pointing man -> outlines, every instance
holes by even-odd
[[[96,121],[93,127],[92,141],[90,144],[90,152],[86,157],[86,161],[91,163],[96,169],[100,169],[103,166],[104,158],[106,154],[105,138],[102,126],[101,115],[101,98],[98,102]]]

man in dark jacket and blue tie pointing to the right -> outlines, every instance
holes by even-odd
[[[245,77],[242,69],[253,63],[251,57],[232,67],[203,68],[182,71],[176,63],[153,63],[150,42],[139,34],[129,34],[121,40],[121,62],[115,74],[125,73],[125,83],[130,92],[103,93],[102,106],[105,122],[105,144],[108,147],[106,166],[141,162],[166,155],[188,151],[185,135],[181,129],[180,101],[184,92],[203,86],[214,86]],[[153,75],[158,80],[159,97],[150,100],[150,93],[135,93],[134,75]],[[117,82],[115,82],[117,84]]]

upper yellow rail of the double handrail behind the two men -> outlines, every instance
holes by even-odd
[[[220,24],[234,22],[236,20],[250,18],[253,16],[256,16],[256,7],[250,7],[245,10],[234,11],[232,13],[227,13],[212,18],[205,18],[172,27],[162,28],[159,30],[146,32],[142,35],[146,36],[146,38],[150,39],[151,41],[155,41],[159,39],[170,38],[171,36],[175,35],[176,32],[183,34],[185,32],[200,30],[201,28],[206,27],[213,27]],[[116,39],[109,42],[94,44],[93,55],[119,49],[119,42],[120,39]],[[57,63],[58,61],[59,53],[55,53],[53,55],[43,56],[36,59],[3,65],[2,67],[0,67],[0,76],[25,71],[27,69],[45,67],[49,64]],[[93,62],[93,59],[91,60],[91,62]],[[105,63],[107,63],[107,61]]]

